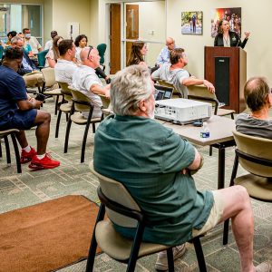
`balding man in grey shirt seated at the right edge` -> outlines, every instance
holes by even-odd
[[[251,113],[238,115],[237,131],[272,140],[272,121],[269,120],[272,94],[267,80],[262,77],[250,78],[245,85],[244,94]]]

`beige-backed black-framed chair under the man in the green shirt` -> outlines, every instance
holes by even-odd
[[[92,173],[100,181],[97,193],[101,200],[101,206],[92,234],[86,272],[93,269],[97,244],[108,256],[128,264],[128,272],[134,271],[138,258],[167,250],[169,271],[174,271],[172,247],[142,242],[144,228],[150,222],[146,219],[144,212],[142,212],[135,200],[132,199],[129,191],[121,182],[102,176],[95,171],[92,162],[90,167]],[[110,220],[104,219],[105,210]],[[136,228],[133,240],[124,238],[116,232],[112,222],[123,227]],[[198,257],[199,270],[201,272],[207,271],[199,237],[193,238],[191,242],[194,244]]]

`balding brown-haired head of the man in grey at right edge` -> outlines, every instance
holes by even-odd
[[[267,94],[270,89],[264,77],[252,77],[244,88],[245,100],[251,112],[261,110],[267,103]]]

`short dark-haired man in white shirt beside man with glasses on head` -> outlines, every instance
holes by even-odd
[[[60,58],[54,66],[55,80],[61,83],[72,84],[73,73],[77,65],[73,63],[75,56],[75,45],[72,40],[63,40],[59,44]]]

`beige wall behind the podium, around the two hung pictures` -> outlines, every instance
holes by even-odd
[[[189,56],[189,72],[198,77],[204,76],[204,46],[213,45],[210,37],[211,10],[218,7],[242,8],[242,32],[248,30],[251,35],[245,50],[248,54],[248,77],[263,75],[272,83],[272,50],[270,11],[271,0],[228,0],[222,2],[203,0],[168,0],[167,1],[167,34],[184,47]],[[181,11],[203,11],[203,35],[181,34]]]

